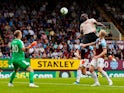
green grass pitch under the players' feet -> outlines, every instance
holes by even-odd
[[[112,78],[109,86],[105,78],[99,78],[101,86],[92,87],[92,78],[81,78],[79,85],[73,85],[75,78],[35,79],[39,88],[28,87],[28,79],[15,79],[14,87],[8,87],[9,79],[0,79],[0,93],[124,93],[124,78]]]

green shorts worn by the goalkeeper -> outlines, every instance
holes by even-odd
[[[27,62],[24,59],[22,59],[22,60],[13,60],[12,63],[14,65],[14,69],[21,68],[23,70],[26,70],[26,68],[30,66],[29,62]]]

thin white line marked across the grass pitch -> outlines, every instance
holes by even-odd
[[[1,83],[8,83],[8,82],[1,82]],[[14,82],[19,84],[28,84],[28,82]],[[59,86],[91,86],[90,84],[67,84],[67,83],[39,83],[36,82],[36,84],[39,85],[59,85]],[[124,86],[109,86],[109,85],[101,85],[101,87],[115,87],[115,88],[124,88]]]

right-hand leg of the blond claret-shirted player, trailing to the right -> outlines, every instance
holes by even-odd
[[[106,77],[108,80],[109,85],[111,86],[113,84],[112,80],[109,78],[108,74],[103,70],[104,67],[104,59],[98,58],[98,71]]]

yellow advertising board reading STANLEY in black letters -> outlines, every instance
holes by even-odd
[[[30,62],[36,70],[77,70],[80,63],[71,59],[31,59]]]

